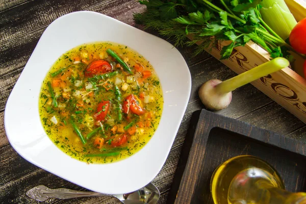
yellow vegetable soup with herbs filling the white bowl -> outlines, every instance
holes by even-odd
[[[154,135],[162,109],[154,68],[131,48],[110,42],[62,55],[44,79],[39,100],[49,138],[87,163],[133,155]]]

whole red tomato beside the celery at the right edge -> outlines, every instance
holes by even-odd
[[[292,29],[289,41],[291,46],[299,53],[306,54],[306,18],[300,20]]]

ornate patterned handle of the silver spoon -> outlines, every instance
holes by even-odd
[[[75,197],[114,196],[114,195],[97,193],[97,192],[76,191],[66,188],[50,189],[46,186],[40,185],[31,188],[27,192],[27,196],[37,201],[45,201],[49,198],[68,199]]]

